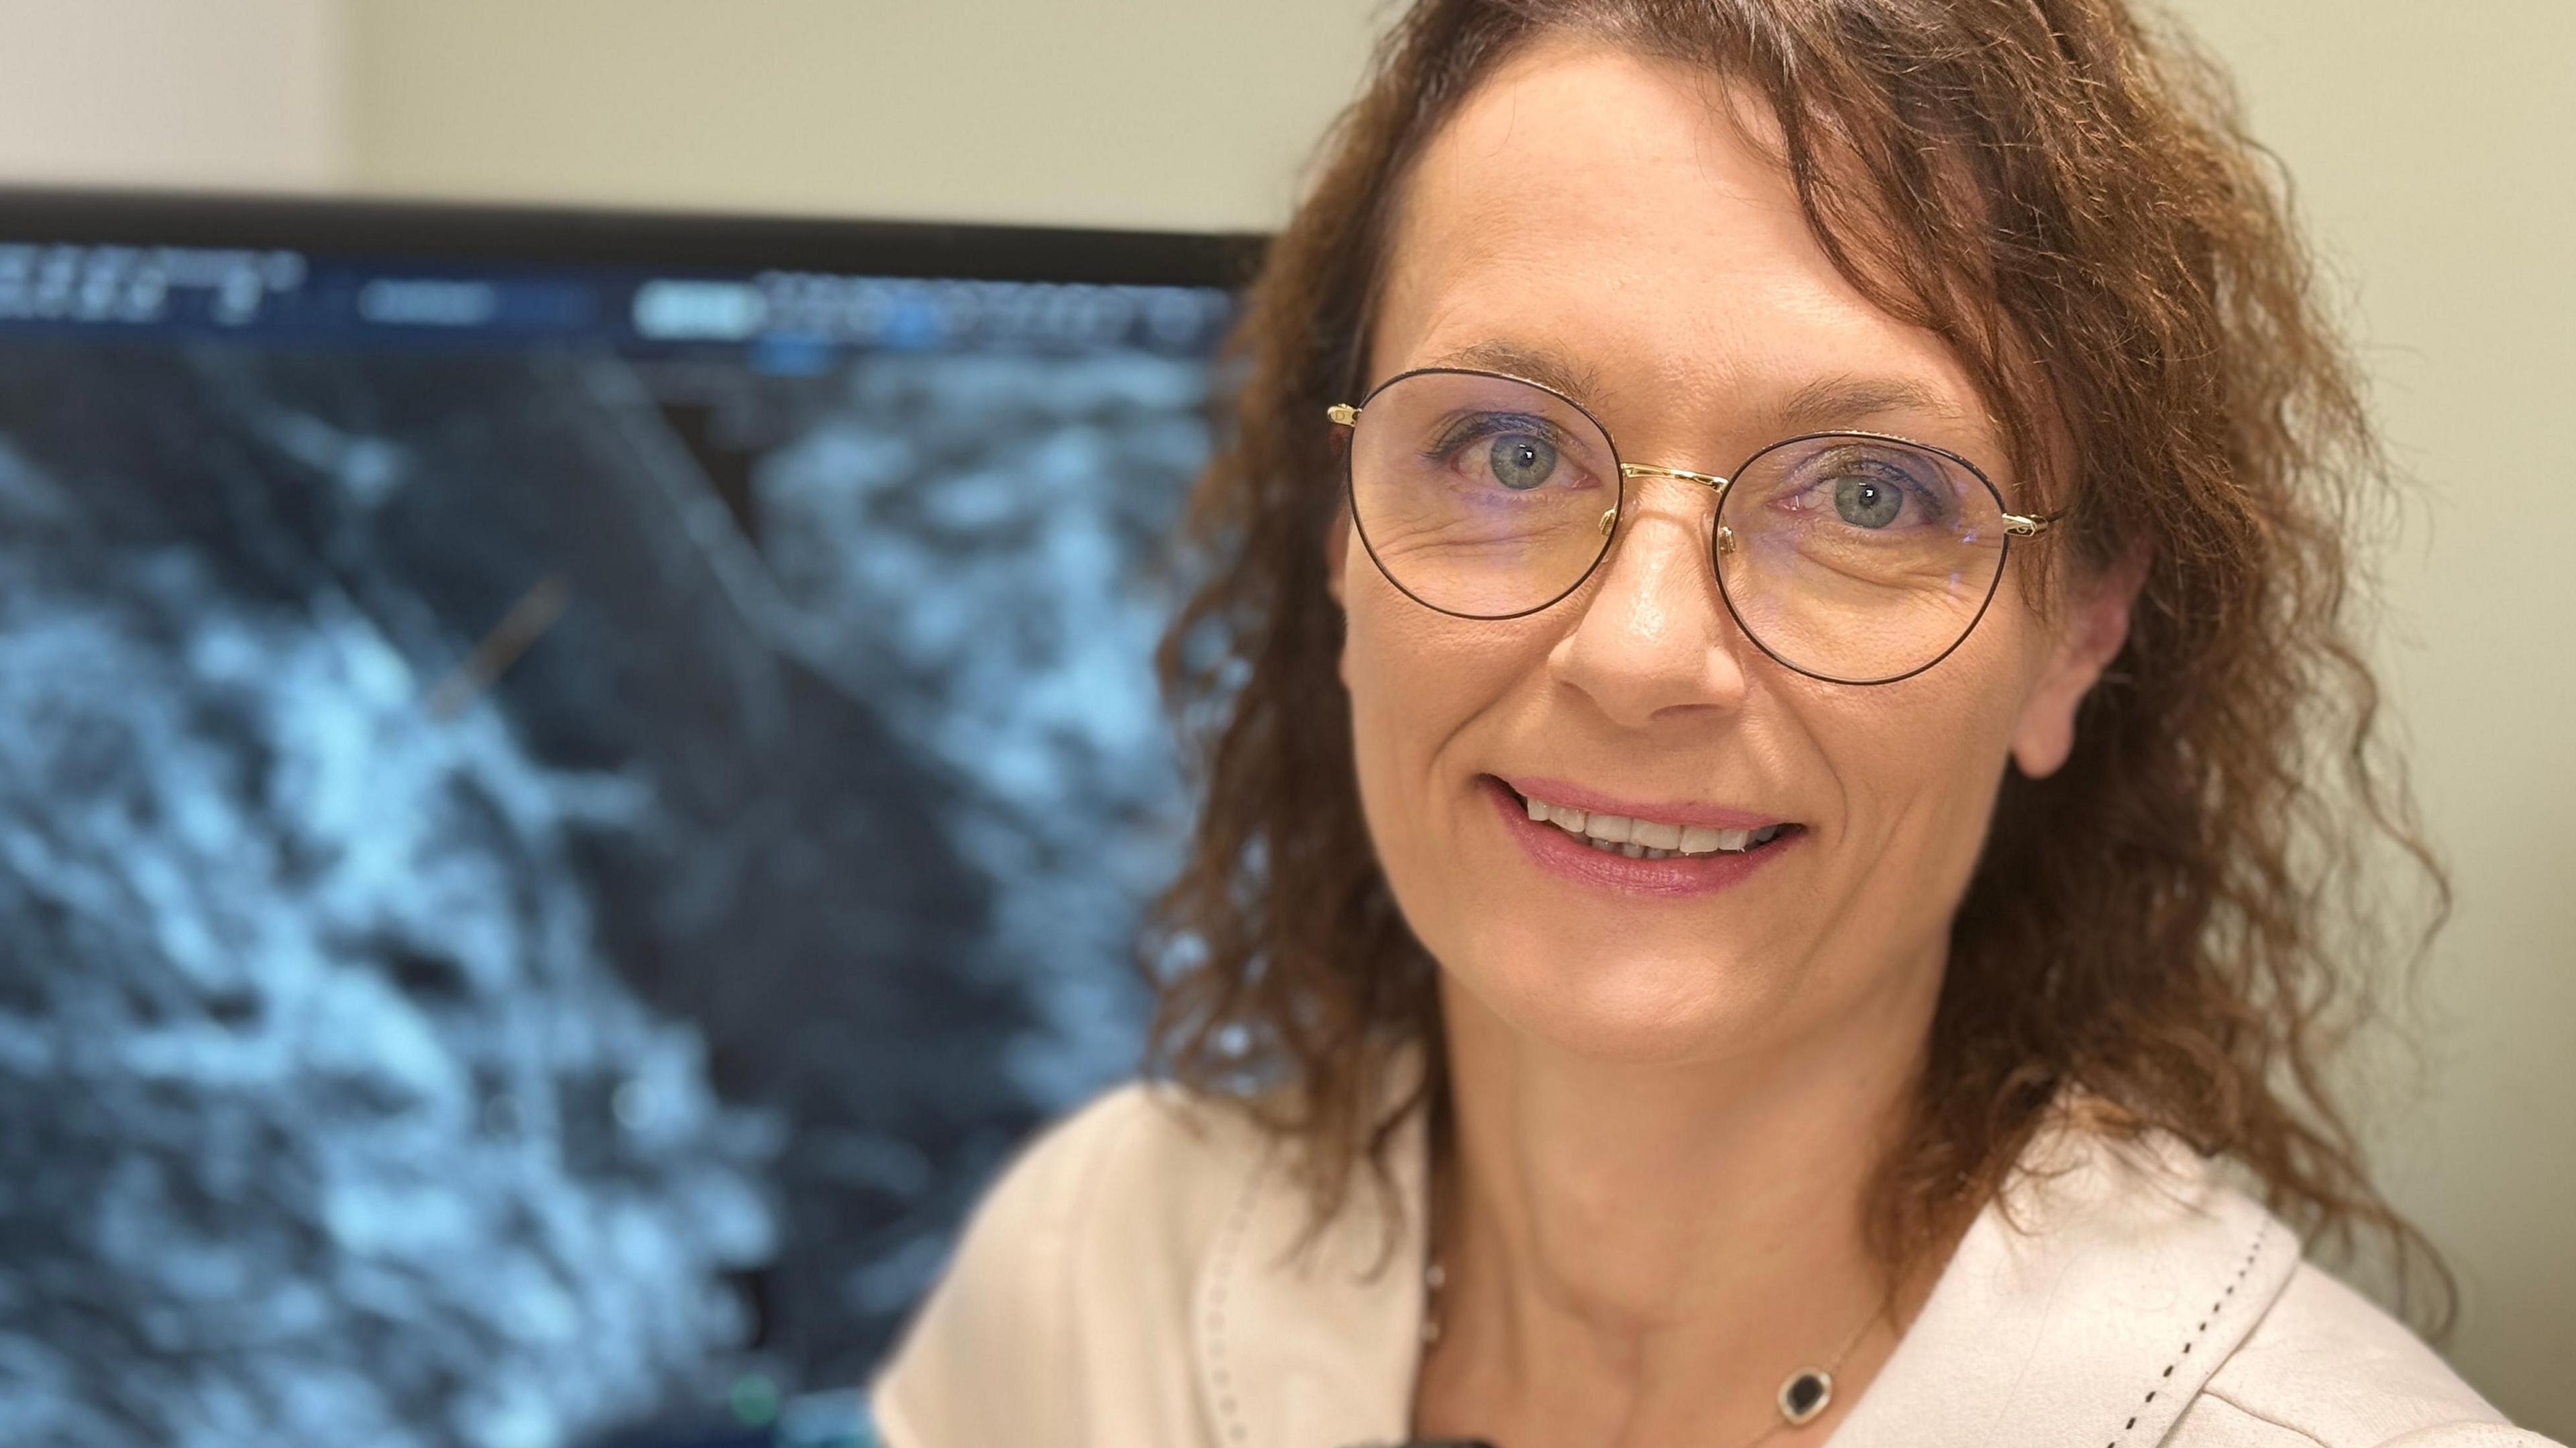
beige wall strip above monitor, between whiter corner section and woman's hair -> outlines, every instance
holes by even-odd
[[[1262,227],[1355,0],[358,0],[358,180],[410,193]]]

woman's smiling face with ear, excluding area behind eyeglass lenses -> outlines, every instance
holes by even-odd
[[[1623,459],[1705,474],[1790,433],[1899,433],[2035,510],[1958,361],[1834,271],[1726,106],[1695,70],[1579,41],[1499,70],[1406,183],[1373,379],[1561,381]],[[2007,760],[2063,760],[2125,631],[2117,590],[2035,613],[2017,557],[1937,667],[1819,683],[1728,616],[1713,508],[1703,487],[1631,482],[1582,590],[1507,621],[1435,613],[1347,531],[1337,544],[1360,799],[1396,899],[1455,987],[1592,1056],[1919,1025]],[[1530,796],[1783,830],[1741,855],[1631,861],[1533,822]]]

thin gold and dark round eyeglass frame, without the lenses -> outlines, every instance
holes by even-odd
[[[2004,490],[1996,487],[1991,477],[1986,477],[1986,469],[1981,469],[1973,461],[1953,453],[1950,448],[1940,448],[1940,446],[1922,443],[1922,441],[1914,441],[1914,438],[1901,438],[1896,433],[1865,433],[1865,430],[1852,430],[1852,428],[1826,428],[1826,430],[1816,430],[1816,433],[1798,433],[1795,438],[1780,438],[1777,443],[1765,443],[1765,446],[1754,448],[1752,456],[1747,456],[1741,464],[1736,464],[1734,474],[1690,472],[1690,469],[1662,466],[1662,464],[1631,464],[1631,461],[1623,461],[1618,456],[1618,438],[1610,435],[1610,425],[1602,423],[1600,417],[1595,417],[1592,410],[1584,407],[1582,402],[1566,397],[1564,392],[1558,392],[1558,389],[1553,389],[1553,386],[1548,386],[1543,381],[1530,381],[1528,376],[1512,376],[1507,371],[1484,371],[1484,368],[1471,368],[1471,366],[1417,366],[1412,371],[1399,371],[1396,376],[1388,376],[1378,386],[1370,386],[1368,394],[1360,402],[1334,402],[1332,407],[1324,407],[1324,417],[1332,420],[1334,428],[1350,428],[1352,435],[1358,435],[1360,412],[1365,412],[1368,405],[1376,402],[1381,392],[1386,392],[1388,386],[1396,386],[1399,381],[1414,379],[1414,376],[1486,376],[1486,379],[1497,379],[1497,381],[1515,381],[1520,386],[1535,386],[1538,392],[1546,392],[1548,397],[1553,397],[1553,399],[1564,402],[1566,407],[1571,407],[1577,415],[1582,415],[1584,423],[1592,423],[1592,428],[1602,435],[1602,443],[1610,446],[1610,461],[1618,464],[1618,479],[1620,479],[1620,495],[1618,495],[1618,500],[1610,505],[1607,513],[1602,513],[1602,523],[1600,523],[1600,528],[1602,528],[1602,549],[1597,554],[1592,554],[1592,562],[1584,567],[1584,572],[1574,582],[1569,582],[1561,593],[1556,593],[1553,598],[1548,598],[1546,603],[1538,603],[1533,608],[1517,608],[1512,613],[1458,613],[1455,608],[1440,608],[1437,603],[1422,598],[1412,587],[1404,587],[1404,580],[1399,580],[1394,575],[1394,569],[1386,567],[1386,559],[1378,557],[1378,546],[1368,541],[1368,526],[1360,523],[1360,492],[1358,492],[1358,482],[1352,479],[1352,453],[1358,453],[1358,448],[1342,448],[1342,500],[1350,505],[1352,531],[1360,533],[1360,546],[1368,551],[1368,562],[1376,564],[1378,575],[1386,582],[1391,582],[1396,587],[1396,593],[1401,593],[1404,598],[1412,598],[1414,603],[1419,603],[1422,608],[1430,608],[1432,613],[1448,613],[1450,618],[1479,618],[1479,621],[1486,621],[1486,624],[1499,624],[1499,621],[1507,621],[1507,618],[1528,618],[1530,613],[1546,613],[1548,608],[1556,608],[1558,603],[1564,603],[1566,598],[1571,598],[1574,593],[1579,593],[1584,587],[1584,582],[1589,582],[1592,575],[1600,572],[1602,559],[1610,557],[1613,533],[1618,531],[1618,520],[1628,510],[1628,479],[1631,477],[1669,477],[1674,482],[1687,482],[1687,484],[1695,484],[1695,487],[1705,487],[1705,490],[1710,490],[1716,495],[1716,508],[1710,508],[1710,513],[1708,513],[1708,523],[1710,523],[1708,572],[1716,575],[1716,580],[1718,580],[1718,598],[1726,603],[1726,613],[1736,621],[1736,631],[1741,631],[1757,649],[1762,649],[1762,654],[1767,660],[1772,660],[1775,665],[1780,665],[1780,667],[1785,667],[1790,672],[1798,672],[1798,675],[1806,675],[1806,678],[1814,678],[1814,680],[1821,680],[1821,683],[1847,683],[1847,685],[1862,685],[1862,688],[1865,685],[1878,685],[1878,683],[1901,683],[1901,680],[1909,680],[1909,678],[1914,678],[1914,675],[1919,675],[1919,672],[1940,665],[1950,654],[1955,654],[1958,647],[1965,644],[1971,634],[1976,634],[1976,626],[1986,621],[1986,611],[1994,605],[1994,595],[2004,587],[2004,569],[2012,567],[2012,541],[2014,538],[2040,538],[2040,536],[2048,533],[2050,526],[2056,526],[2066,515],[2066,513],[2014,513],[2012,505],[2004,502]],[[1726,515],[1726,490],[1734,487],[1734,477],[1741,477],[1744,469],[1749,469],[1752,464],[1762,461],[1767,453],[1775,453],[1775,451],[1795,446],[1795,443],[1811,443],[1811,441],[1819,441],[1819,438],[1865,438],[1865,441],[1873,441],[1873,443],[1904,443],[1909,448],[1919,448],[1919,451],[1927,451],[1927,453],[1932,453],[1937,459],[1953,461],[1953,464],[1968,469],[1968,477],[1973,477],[1976,482],[1981,482],[1986,487],[1986,495],[1994,497],[1996,513],[2004,518],[2004,544],[2002,544],[2002,551],[1994,559],[1994,577],[1986,582],[1986,598],[1981,598],[1976,603],[1976,613],[1958,631],[1958,639],[1950,639],[1950,644],[1942,652],[1932,654],[1932,660],[1927,660],[1922,665],[1914,665],[1906,672],[1896,672],[1896,675],[1886,675],[1886,678],[1839,678],[1839,675],[1819,672],[1819,670],[1811,670],[1811,667],[1803,667],[1798,662],[1790,662],[1790,660],[1780,657],[1780,652],[1772,649],[1770,644],[1765,644],[1762,634],[1754,634],[1752,624],[1744,621],[1744,611],[1736,608],[1736,598],[1726,587],[1726,569],[1718,567],[1718,557],[1734,551],[1734,531],[1721,520]]]

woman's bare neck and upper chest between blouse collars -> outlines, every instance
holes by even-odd
[[[1937,961],[1909,976],[1829,1028],[1690,1064],[1577,1056],[1443,979],[1448,1286],[1425,1409],[1448,1386],[1481,1415],[1455,1427],[1533,1443],[1700,1443],[1777,1422],[1790,1371],[1826,1366],[1917,1286],[1865,1242]],[[1860,1335],[1819,1427],[1888,1348],[1893,1324]]]

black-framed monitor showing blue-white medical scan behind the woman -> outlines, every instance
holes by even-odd
[[[0,204],[0,1438],[858,1440],[1136,1069],[1247,255]]]

